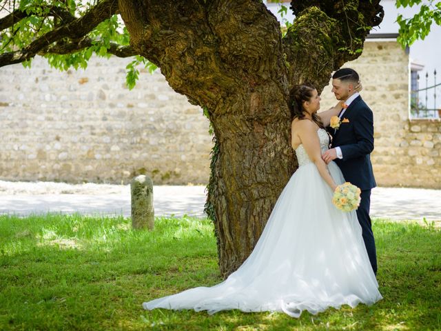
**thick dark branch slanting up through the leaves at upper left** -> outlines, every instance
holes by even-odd
[[[22,50],[0,54],[0,67],[32,59],[38,52],[61,39],[79,39],[88,34],[99,23],[112,17],[118,10],[117,0],[103,0],[86,12],[83,17],[70,20],[69,23],[43,34]]]

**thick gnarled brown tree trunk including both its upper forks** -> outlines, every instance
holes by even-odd
[[[290,88],[307,80],[321,90],[358,57],[378,3],[292,1],[297,19],[282,39],[258,0],[119,0],[130,46],[214,128],[206,210],[224,277],[248,257],[296,169]]]

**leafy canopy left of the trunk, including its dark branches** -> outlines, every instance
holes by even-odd
[[[107,58],[112,54],[132,56],[133,61],[126,67],[127,87],[132,89],[139,77],[140,65],[150,72],[156,66],[130,49],[130,35],[116,10],[96,10],[97,4],[104,2],[21,0],[11,3],[4,0],[0,5],[0,66],[21,62],[30,67],[36,54],[48,59],[50,66],[59,70],[86,68],[92,54]],[[90,21],[86,13],[97,17],[90,22],[90,30],[63,33],[65,26],[75,27],[81,19]],[[48,36],[54,42],[45,44]]]

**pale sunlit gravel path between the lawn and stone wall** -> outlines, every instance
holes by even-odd
[[[154,186],[156,216],[203,217],[205,186]],[[441,223],[441,190],[374,188],[371,217]],[[130,216],[130,185],[0,181],[0,214],[63,212]]]

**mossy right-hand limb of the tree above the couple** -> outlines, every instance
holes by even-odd
[[[384,16],[379,3],[291,1],[296,19],[283,38],[290,88],[309,81],[320,92],[329,83],[331,72],[360,57],[369,30],[378,26]]]

